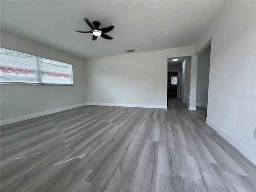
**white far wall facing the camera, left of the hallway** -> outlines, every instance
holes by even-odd
[[[167,108],[167,58],[193,54],[188,46],[86,60],[88,104]]]

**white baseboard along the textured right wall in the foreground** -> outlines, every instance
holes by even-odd
[[[256,153],[242,144],[240,141],[236,140],[234,137],[230,136],[222,128],[216,125],[214,122],[206,118],[205,122],[212,127],[218,134],[220,134],[224,139],[226,139],[234,148],[236,148],[240,153],[242,153],[248,160],[250,160],[254,165],[256,165]]]

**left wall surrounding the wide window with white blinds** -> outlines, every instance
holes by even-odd
[[[86,104],[84,60],[70,54],[0,33],[1,46],[72,64],[74,86],[1,85],[1,125]],[[44,103],[44,107],[40,104]],[[23,117],[23,118],[20,118]]]

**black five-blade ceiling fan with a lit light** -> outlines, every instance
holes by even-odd
[[[84,18],[84,21],[88,24],[88,26],[90,26],[90,28],[92,28],[92,30],[91,31],[77,31],[77,30],[75,30],[76,32],[92,33],[92,35],[93,35],[92,40],[96,40],[98,36],[101,36],[104,39],[110,39],[110,40],[114,39],[113,37],[110,37],[110,36],[105,34],[107,32],[110,32],[112,29],[114,29],[114,25],[111,25],[111,26],[106,27],[106,28],[99,29],[100,22],[94,21],[91,24],[91,22],[88,20],[88,18]]]

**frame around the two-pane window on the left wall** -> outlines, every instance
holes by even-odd
[[[17,51],[17,50],[13,50],[13,49],[10,49],[10,48],[5,48],[5,47],[2,47],[0,46],[0,48],[4,48],[4,49],[7,49],[7,50],[10,50],[10,51],[15,51],[15,52],[19,52],[21,54],[28,54],[28,55],[31,55],[31,56],[34,56],[36,58],[36,71],[37,74],[38,74],[38,78],[39,78],[39,83],[24,83],[24,82],[1,82],[0,81],[0,85],[55,85],[55,86],[74,86],[74,75],[73,75],[73,65],[70,64],[70,63],[67,63],[67,62],[62,62],[62,61],[59,61],[59,60],[53,60],[53,59],[50,59],[50,58],[46,58],[46,57],[43,57],[43,56],[38,56],[38,55],[34,55],[34,54],[30,54],[30,53],[26,53],[26,52],[20,52],[20,51]],[[42,75],[41,75],[41,70],[40,70],[40,66],[39,66],[39,58],[43,58],[43,59],[48,59],[48,60],[52,60],[52,61],[55,61],[55,62],[61,62],[61,63],[64,63],[64,64],[69,64],[71,66],[71,84],[57,84],[57,83],[44,83],[42,82]]]

